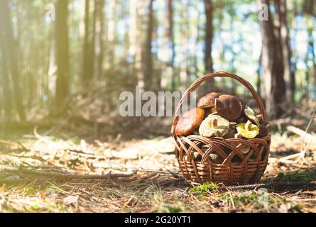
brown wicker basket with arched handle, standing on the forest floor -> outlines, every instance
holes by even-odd
[[[216,182],[232,185],[253,184],[258,182],[268,164],[271,135],[248,140],[242,138],[206,138],[201,135],[178,137],[175,135],[175,126],[178,122],[180,109],[186,96],[199,87],[202,82],[213,77],[230,77],[243,84],[254,96],[263,115],[263,119],[266,120],[266,112],[261,99],[254,87],[245,79],[227,72],[206,74],[200,77],[183,94],[178,108],[175,111],[175,117],[173,118],[171,133],[175,140],[175,155],[178,158],[180,169],[185,178],[191,183],[202,184],[204,182]],[[205,145],[207,145],[207,150],[202,150],[202,146]],[[239,149],[243,145],[248,145],[251,148],[246,155],[241,153]],[[200,153],[202,160],[194,160],[193,153],[196,151]],[[208,158],[212,153],[216,153],[222,157],[224,160],[222,164],[213,163]],[[231,161],[235,155],[239,156],[238,160],[241,160],[240,162],[236,163]]]

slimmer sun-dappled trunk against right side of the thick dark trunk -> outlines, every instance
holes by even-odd
[[[282,43],[285,95],[288,102],[294,101],[295,94],[295,70],[291,62],[293,53],[290,48],[290,34],[288,31],[286,0],[275,1],[278,21],[280,23],[280,38]]]

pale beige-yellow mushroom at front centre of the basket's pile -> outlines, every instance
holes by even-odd
[[[223,137],[229,132],[229,121],[219,115],[212,114],[202,121],[199,133],[202,136]]]

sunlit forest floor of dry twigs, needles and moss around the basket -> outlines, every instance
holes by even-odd
[[[295,122],[305,130],[308,120]],[[10,133],[0,140],[0,212],[316,212],[314,141],[276,130],[261,179],[267,187],[198,187],[183,179],[168,127],[146,139],[95,139],[89,128],[81,135],[58,125]],[[289,156],[302,150],[305,159]]]

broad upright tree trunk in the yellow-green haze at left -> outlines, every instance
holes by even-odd
[[[56,3],[55,40],[56,40],[56,108],[64,107],[69,95],[69,41],[68,41],[68,0]]]

